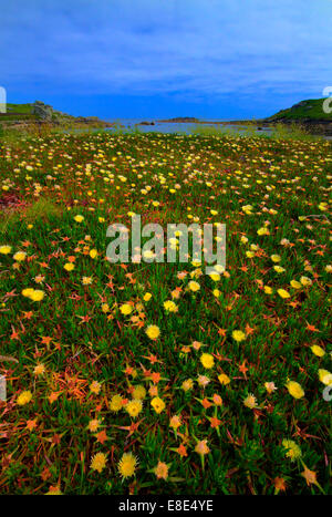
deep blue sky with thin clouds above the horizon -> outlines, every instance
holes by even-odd
[[[332,0],[0,0],[0,86],[73,115],[260,117],[332,84]]]

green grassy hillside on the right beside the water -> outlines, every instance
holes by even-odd
[[[332,122],[332,113],[323,112],[324,99],[310,99],[301,101],[293,106],[281,110],[266,122]]]

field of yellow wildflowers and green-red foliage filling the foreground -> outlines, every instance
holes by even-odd
[[[331,493],[331,178],[323,141],[0,142],[0,493]],[[110,263],[132,214],[226,224],[226,270]]]

